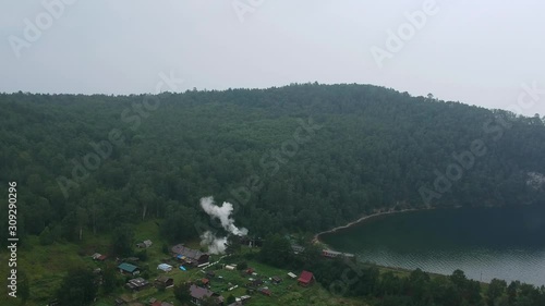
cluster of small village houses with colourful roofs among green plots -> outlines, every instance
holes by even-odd
[[[301,299],[308,291],[317,290],[312,271],[275,269],[258,261],[241,260],[239,254],[211,255],[184,244],[170,246],[168,254],[165,254],[166,249],[159,253],[161,246],[150,240],[135,246],[157,256],[145,261],[138,257],[109,258],[99,253],[89,256],[98,276],[105,267],[116,267],[118,278],[124,280],[122,291],[111,296],[113,304],[104,305],[180,305],[174,296],[174,285],[181,283],[186,284],[193,305],[263,305],[267,299],[269,303],[271,299]],[[292,244],[291,248],[293,254],[304,250],[298,244]],[[257,250],[255,243],[251,243],[243,247],[242,253]],[[354,255],[323,249],[322,256],[353,258]]]

